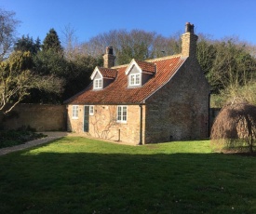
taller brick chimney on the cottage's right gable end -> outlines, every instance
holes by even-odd
[[[182,34],[182,56],[196,58],[196,41],[198,36],[194,33],[194,24],[186,22],[185,33]]]

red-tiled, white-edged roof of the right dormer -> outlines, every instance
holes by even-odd
[[[155,63],[132,59],[128,64],[126,74],[128,75],[131,69],[136,66],[140,73],[155,74]]]

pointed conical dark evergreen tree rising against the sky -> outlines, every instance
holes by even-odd
[[[57,32],[51,28],[47,33],[45,40],[43,41],[43,51],[51,50],[54,52],[62,52],[61,41]]]

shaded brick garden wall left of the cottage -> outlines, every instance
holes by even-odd
[[[65,131],[65,105],[18,104],[9,114],[0,117],[3,129],[32,127],[36,131]]]

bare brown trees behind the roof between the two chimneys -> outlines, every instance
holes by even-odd
[[[108,46],[114,47],[118,65],[132,59],[147,60],[180,53],[181,41],[176,36],[165,38],[155,32],[115,30],[92,37],[80,48],[84,54],[98,58]]]

